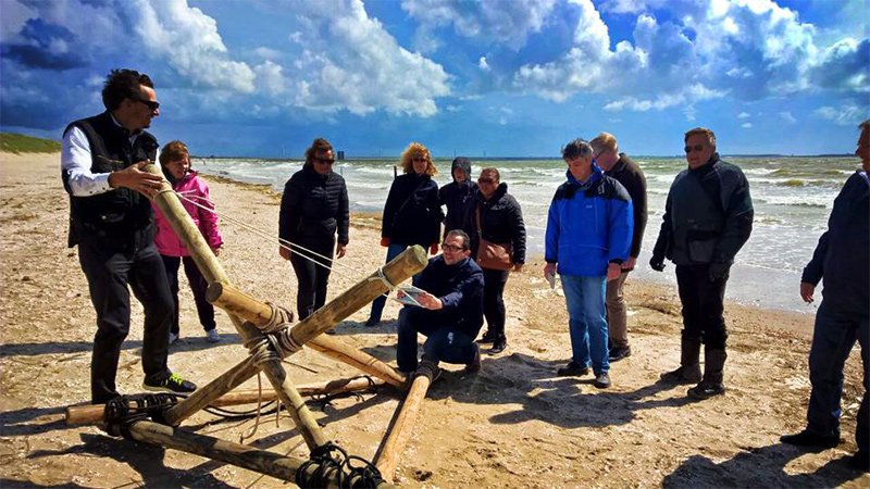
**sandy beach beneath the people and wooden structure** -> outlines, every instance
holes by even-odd
[[[287,175],[289,177],[289,175]],[[207,178],[220,212],[277,234],[279,196],[265,186]],[[69,202],[57,154],[0,153],[0,487],[287,487],[289,482],[174,450],[114,439],[91,426],[69,427],[64,409],[89,399],[95,314],[77,252],[66,248]],[[348,255],[336,262],[330,298],[376,269],[385,251],[380,223],[351,218]],[[289,263],[266,239],[222,222],[220,256],[241,290],[295,304]],[[808,256],[807,256],[808,258]],[[738,256],[739,260],[739,256]],[[860,391],[858,350],[846,368],[843,443],[809,453],[779,437],[803,428],[812,316],[729,304],[731,337],[725,396],[703,402],[685,386],[657,384],[679,364],[680,304],[675,290],[629,279],[633,355],[611,366],[613,387],[592,378],[559,378],[570,358],[560,292],[540,275],[538,258],[513,274],[505,292],[509,347],[484,354],[483,369],[447,372],[422,404],[396,481],[408,487],[868,487],[870,476],[846,467],[855,451]],[[669,265],[666,273],[673,273]],[[247,355],[233,324],[217,313],[222,342],[208,343],[183,280],[182,340],[170,365],[204,385]],[[763,293],[763,284],[758,284]],[[797,284],[795,284],[797,294]],[[337,338],[395,365],[395,318],[362,325],[368,308],[337,326]],[[139,392],[141,309],[136,303],[119,367],[119,387]],[[287,359],[294,383],[358,375],[303,350]],[[263,381],[264,385],[265,380]],[[244,389],[256,389],[257,379]],[[371,459],[402,393],[382,388],[327,403],[311,402],[326,437]],[[251,406],[246,406],[247,409]],[[241,409],[241,408],[237,408]],[[226,422],[206,412],[182,426],[239,441],[254,421]],[[307,457],[290,418],[263,418],[245,441]]]

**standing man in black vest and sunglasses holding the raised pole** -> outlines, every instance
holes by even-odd
[[[91,402],[119,396],[117,363],[129,331],[128,285],[145,310],[142,387],[192,392],[196,385],[166,365],[174,302],[154,247],[149,201],[162,177],[142,171],[157,160],[157,139],[144,129],[160,115],[160,103],[148,75],[132,70],[109,74],[102,102],[105,112],[66,127],[61,150],[61,176],[70,195],[69,246],[78,246],[97,313]]]

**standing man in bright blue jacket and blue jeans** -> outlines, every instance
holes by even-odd
[[[610,387],[607,280],[619,278],[632,243],[632,201],[625,187],[593,164],[593,149],[575,139],[562,150],[568,181],[559,186],[547,215],[544,276],[558,272],[568,305],[572,360],[557,372],[582,376],[592,362],[595,387]]]

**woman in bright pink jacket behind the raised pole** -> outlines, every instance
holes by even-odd
[[[172,184],[172,189],[182,197],[196,202],[182,199],[185,210],[190,214],[194,223],[206,238],[206,242],[209,243],[216,256],[220,254],[221,244],[223,244],[223,239],[217,230],[217,216],[213,212],[197,205],[198,203],[208,209],[214,209],[214,204],[209,199],[209,186],[197,176],[196,172],[190,170],[190,154],[187,151],[187,146],[182,141],[167,142],[160,151],[160,164],[163,167],[163,175]],[[170,279],[170,288],[175,299],[175,318],[172,322],[170,331],[170,343],[178,339],[181,331],[178,328],[178,266],[182,263],[184,263],[184,273],[187,275],[190,290],[194,292],[199,323],[206,329],[208,340],[216,343],[221,341],[221,336],[217,334],[216,324],[214,323],[214,306],[206,300],[206,289],[209,284],[202,277],[199,268],[197,268],[194,259],[190,258],[190,252],[187,251],[182,240],[172,230],[169,220],[160,212],[157,205],[153,203],[151,205],[154,208],[154,216],[157,218],[154,243],[163,258],[163,266],[166,268],[166,277]]]

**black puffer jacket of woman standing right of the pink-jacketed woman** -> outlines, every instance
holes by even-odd
[[[293,174],[281,196],[278,236],[291,242],[323,242],[338,233],[348,243],[347,186],[341,175],[321,175],[310,164]]]

